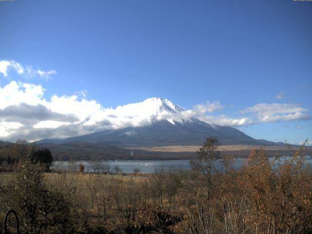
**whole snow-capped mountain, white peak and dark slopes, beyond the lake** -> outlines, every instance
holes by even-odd
[[[118,147],[154,147],[202,145],[207,137],[217,137],[222,145],[276,145],[257,140],[227,126],[204,122],[190,111],[166,98],[148,98],[142,102],[118,106],[110,115],[116,123],[129,121],[128,126],[63,139],[45,138],[37,143],[63,144],[88,142]],[[129,126],[130,125],[130,126]]]

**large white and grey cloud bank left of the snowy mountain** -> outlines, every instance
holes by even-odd
[[[43,94],[44,89],[41,85],[29,83],[11,81],[6,86],[0,87],[0,137],[15,136],[18,132],[32,140],[30,135],[35,129],[41,129],[44,132],[45,129],[79,123],[82,127],[79,129],[76,126],[79,132],[75,134],[86,134],[89,133],[86,130],[88,127],[84,129],[86,122],[95,123],[99,119],[98,115],[104,111],[104,108],[94,100],[89,101],[83,98],[78,100],[75,95],[70,97],[55,95],[50,100],[46,100]],[[20,125],[7,124],[9,118],[14,118],[14,121]],[[88,121],[86,121],[87,118]],[[17,129],[18,131],[13,131]],[[52,134],[54,135],[44,137],[58,137],[59,132]],[[63,131],[61,136],[70,137],[71,134],[72,132],[68,131],[66,135],[66,131]]]

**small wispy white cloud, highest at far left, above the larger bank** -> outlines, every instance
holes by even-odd
[[[10,70],[16,71],[24,78],[39,77],[46,80],[50,79],[52,75],[57,73],[55,70],[42,71],[40,69],[33,69],[31,66],[27,66],[24,69],[20,63],[14,60],[0,60],[0,74],[2,73],[4,77],[7,77]]]

